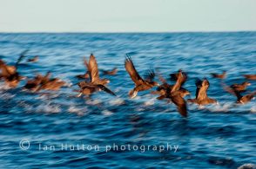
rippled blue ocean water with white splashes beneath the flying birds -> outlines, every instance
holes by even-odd
[[[238,168],[256,163],[256,104],[236,105],[210,73],[227,71],[227,85],[256,74],[256,32],[0,34],[0,58],[9,64],[29,49],[21,75],[51,70],[68,87],[31,93],[0,83],[0,168]],[[93,53],[99,69],[118,68],[108,85],[114,97],[98,92],[77,98],[75,75]],[[196,78],[208,78],[218,105],[188,104],[182,118],[172,103],[150,91],[128,96],[133,82],[124,67],[129,53],[140,75],[149,68],[168,79],[182,68],[194,98]],[[158,78],[156,78],[158,81]],[[172,81],[169,81],[172,83]],[[254,91],[255,81],[249,91]],[[189,97],[186,97],[186,99]],[[168,148],[168,149],[167,149]],[[172,149],[171,149],[172,148]]]

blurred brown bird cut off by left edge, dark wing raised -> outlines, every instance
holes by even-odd
[[[24,77],[17,72],[18,64],[23,58],[24,52],[17,59],[15,66],[6,65],[5,62],[0,59],[1,79],[3,79],[5,84],[10,86],[10,88],[16,88],[19,81],[24,80]]]

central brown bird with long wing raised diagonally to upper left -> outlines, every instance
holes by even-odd
[[[131,80],[135,83],[135,88],[133,88],[129,92],[131,98],[136,97],[139,91],[148,90],[150,88],[158,86],[158,82],[152,81],[154,74],[150,73],[146,80],[142,79],[140,75],[138,75],[138,72],[134,67],[133,62],[131,61],[131,57],[129,55],[126,55],[125,58],[125,69],[130,75]]]

